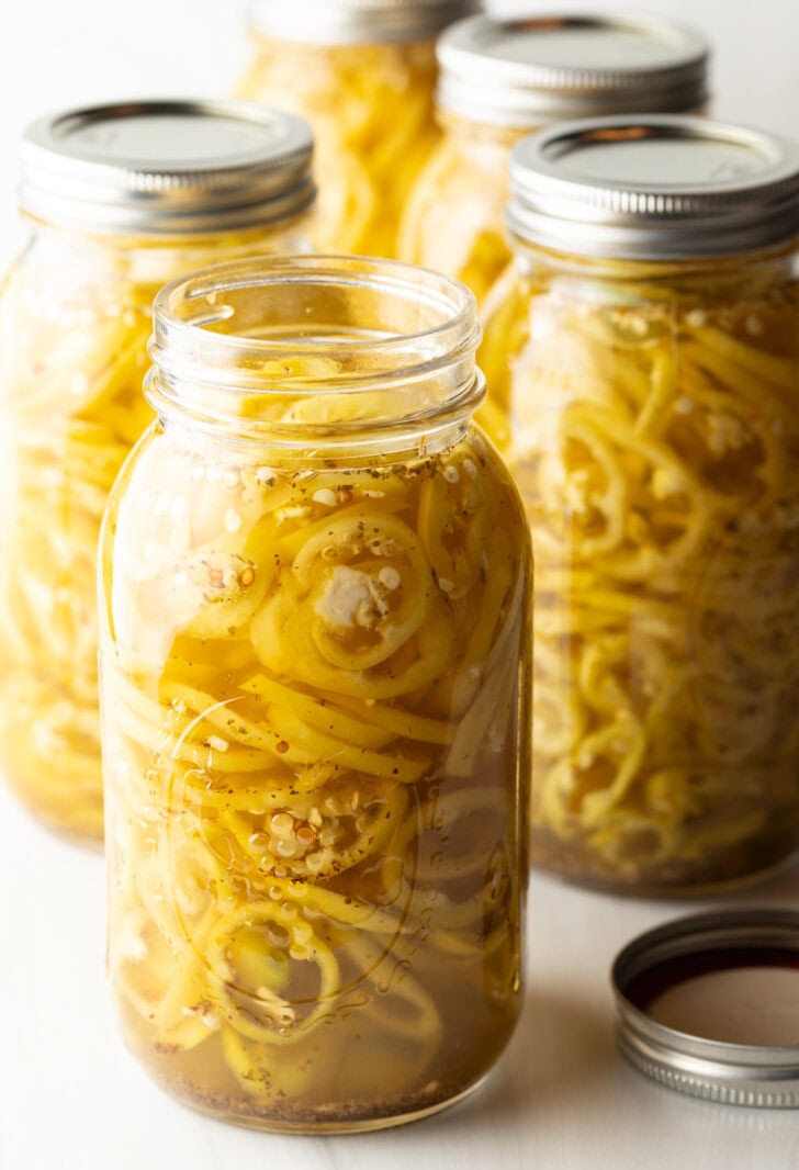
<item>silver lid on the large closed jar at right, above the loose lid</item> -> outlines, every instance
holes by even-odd
[[[510,164],[508,225],[571,255],[689,260],[799,234],[799,145],[677,115],[553,126]]]

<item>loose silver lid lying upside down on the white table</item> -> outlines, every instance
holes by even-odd
[[[613,965],[617,1037],[641,1072],[690,1096],[799,1107],[799,913],[691,915]]]

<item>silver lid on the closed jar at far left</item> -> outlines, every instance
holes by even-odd
[[[315,195],[302,118],[250,102],[128,102],[28,128],[23,212],[101,233],[194,235],[298,214]]]

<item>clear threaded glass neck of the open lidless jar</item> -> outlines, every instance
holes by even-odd
[[[147,398],[171,420],[304,460],[445,446],[483,397],[469,290],[345,256],[220,264],[156,300]]]

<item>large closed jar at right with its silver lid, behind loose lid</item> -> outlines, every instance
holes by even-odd
[[[572,123],[511,186],[478,360],[536,555],[533,860],[762,874],[799,844],[799,147]]]

